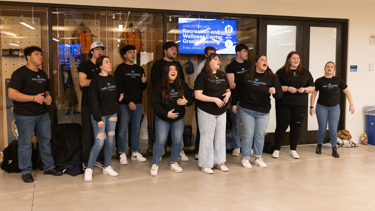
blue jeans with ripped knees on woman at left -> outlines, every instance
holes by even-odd
[[[102,116],[102,120],[104,121],[104,127],[99,128],[98,122],[93,118],[91,115],[91,122],[93,124],[94,129],[94,136],[95,136],[95,143],[90,151],[89,162],[87,163],[87,168],[92,169],[94,167],[96,158],[98,158],[100,150],[104,148],[104,167],[108,167],[111,165],[111,157],[112,157],[112,145],[113,145],[113,137],[115,135],[115,127],[117,122],[117,113]],[[104,138],[98,138],[98,135],[104,133]]]

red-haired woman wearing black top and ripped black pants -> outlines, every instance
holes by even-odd
[[[282,98],[275,100],[275,151],[272,157],[279,157],[281,143],[289,126],[290,155],[293,158],[300,158],[296,152],[297,143],[301,136],[302,122],[308,105],[308,93],[314,91],[314,79],[308,69],[303,67],[300,55],[296,51],[288,54],[284,66],[276,72],[276,75],[284,94]]]

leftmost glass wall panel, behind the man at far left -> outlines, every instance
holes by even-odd
[[[43,63],[39,66],[49,77],[48,70],[48,17],[46,7],[0,5],[0,151],[12,140],[18,139],[13,118],[13,101],[8,98],[12,73],[26,59],[24,48],[37,45],[43,49]]]

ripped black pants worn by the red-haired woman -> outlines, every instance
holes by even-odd
[[[297,143],[301,137],[302,122],[306,114],[306,105],[284,105],[276,103],[275,109],[275,150],[280,150],[288,126],[290,126],[290,149],[296,150]]]

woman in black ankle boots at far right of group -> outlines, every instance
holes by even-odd
[[[341,78],[334,76],[335,71],[335,63],[327,62],[326,66],[324,66],[324,76],[315,81],[315,91],[312,92],[310,98],[310,115],[313,116],[315,114],[314,102],[319,91],[319,98],[316,106],[318,120],[318,146],[315,153],[322,154],[322,143],[327,131],[328,122],[329,136],[332,145],[332,156],[338,158],[340,157],[337,152],[337,125],[340,118],[339,89],[341,89],[347,96],[350,103],[349,112],[352,114],[354,113],[354,105],[348,85]]]

